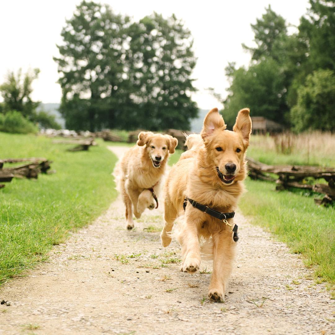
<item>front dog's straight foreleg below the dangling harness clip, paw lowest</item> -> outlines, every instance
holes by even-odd
[[[214,302],[224,299],[224,292],[235,258],[236,242],[231,232],[220,231],[213,235],[213,272],[208,288],[208,297]]]

